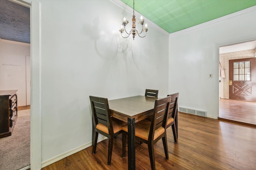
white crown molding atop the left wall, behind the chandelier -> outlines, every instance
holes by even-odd
[[[121,0],[110,0],[110,2],[116,4],[117,6],[119,6],[120,8],[127,10],[130,13],[133,13],[133,8],[131,8],[130,6],[126,5],[124,2],[122,2]],[[134,10],[134,14],[136,16],[140,16],[142,14],[140,14],[139,12],[137,12],[136,10]],[[161,33],[165,34],[166,36],[169,36],[170,34],[165,31],[164,29],[162,29],[161,27],[159,27],[158,25],[156,25],[154,22],[148,20],[148,18],[146,18],[145,16],[143,16],[144,20],[146,21],[146,23],[148,24],[148,26],[153,27],[155,29],[157,29],[158,31],[160,31]],[[121,22],[121,21],[120,21]]]

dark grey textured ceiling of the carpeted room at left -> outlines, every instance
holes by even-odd
[[[0,38],[30,43],[30,9],[0,0]]]

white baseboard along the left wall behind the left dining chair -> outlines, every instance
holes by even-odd
[[[98,138],[98,143],[103,141],[103,140],[105,140],[105,139],[107,139],[107,137],[105,137],[105,136],[102,136],[102,137]],[[63,154],[55,156],[55,157],[53,157],[51,159],[48,159],[48,160],[42,162],[41,166],[42,166],[42,168],[44,168],[44,167],[46,167],[46,166],[48,166],[50,164],[53,164],[54,162],[57,162],[57,161],[59,161],[59,160],[61,160],[63,158],[66,158],[67,156],[70,156],[70,155],[72,155],[72,154],[74,154],[76,152],[79,152],[79,151],[81,151],[83,149],[86,149],[86,148],[88,148],[90,146],[92,146],[92,141],[89,142],[89,143],[86,143],[84,145],[81,145],[80,147],[77,147],[75,149],[72,149],[72,150],[69,150],[67,152],[64,152]]]

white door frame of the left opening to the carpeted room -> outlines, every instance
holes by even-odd
[[[30,169],[42,169],[41,150],[41,4],[10,0],[30,8]]]

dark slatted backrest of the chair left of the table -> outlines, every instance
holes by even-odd
[[[94,128],[98,123],[108,126],[108,134],[113,134],[112,121],[110,116],[110,109],[108,106],[108,99],[96,96],[90,96],[92,107]]]

